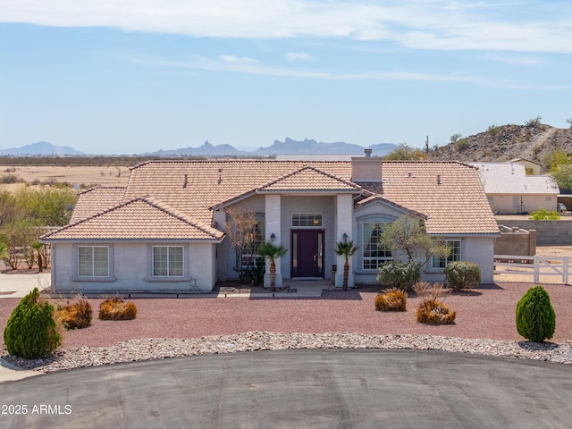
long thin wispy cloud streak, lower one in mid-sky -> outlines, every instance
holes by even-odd
[[[233,55],[221,55],[216,59],[204,56],[192,56],[184,61],[149,59],[133,56],[130,61],[139,65],[177,68],[182,70],[219,71],[245,73],[257,76],[271,76],[278,78],[320,79],[320,80],[388,80],[388,81],[425,81],[472,83],[494,88],[521,88],[521,89],[571,89],[562,86],[537,86],[534,84],[519,83],[512,80],[499,80],[467,75],[466,73],[433,74],[416,71],[361,71],[355,73],[338,73],[334,71],[312,71],[296,68],[282,68],[266,66],[257,60],[235,61]],[[229,61],[229,59],[231,59]]]

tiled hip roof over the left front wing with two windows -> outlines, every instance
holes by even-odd
[[[223,232],[196,222],[154,198],[134,198],[103,213],[70,223],[42,240],[206,240],[220,241]]]

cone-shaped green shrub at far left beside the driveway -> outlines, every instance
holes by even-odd
[[[60,345],[60,334],[54,320],[54,307],[38,302],[35,288],[14,308],[4,329],[8,353],[26,359],[44,357]]]

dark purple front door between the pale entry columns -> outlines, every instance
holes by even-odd
[[[324,230],[292,230],[292,277],[324,277]]]

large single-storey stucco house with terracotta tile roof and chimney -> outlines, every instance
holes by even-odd
[[[451,248],[450,257],[425,265],[425,280],[442,281],[445,265],[466,260],[492,282],[500,232],[474,167],[356,156],[136,165],[127,187],[82,192],[71,223],[43,236],[52,246],[53,288],[210,291],[238,277],[223,231],[228,211],[236,209],[256,214],[255,247],[273,241],[288,248],[276,262],[278,286],[282,279],[331,278],[332,265],[343,266],[334,247],[344,239],[359,247],[349,285],[376,282],[383,261],[403,257],[378,248],[379,231],[404,214],[423,219],[426,231]],[[335,274],[338,286],[342,271]]]

